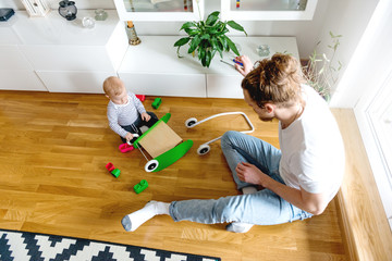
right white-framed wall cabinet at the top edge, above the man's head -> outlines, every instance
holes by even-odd
[[[313,20],[318,0],[221,0],[223,20]]]

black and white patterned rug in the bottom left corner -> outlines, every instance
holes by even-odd
[[[218,261],[220,258],[0,229],[0,261]]]

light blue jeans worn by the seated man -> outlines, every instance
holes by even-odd
[[[238,179],[235,167],[240,162],[252,163],[284,184],[279,174],[281,151],[270,144],[230,130],[222,136],[221,147],[238,189],[254,186]],[[173,201],[170,204],[170,215],[174,221],[205,224],[243,222],[256,225],[282,224],[311,216],[269,189],[219,199]]]

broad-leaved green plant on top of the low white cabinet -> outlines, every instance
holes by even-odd
[[[206,21],[186,22],[182,25],[180,30],[185,30],[187,36],[174,44],[174,47],[177,47],[179,58],[182,58],[180,48],[186,44],[189,45],[187,52],[193,54],[197,52],[198,60],[205,67],[209,67],[217,52],[221,58],[223,58],[223,51],[229,52],[230,50],[240,55],[235,44],[225,34],[229,33],[228,26],[230,26],[233,29],[244,32],[247,36],[244,27],[234,21],[220,21],[219,14],[219,11],[215,11],[208,15]]]

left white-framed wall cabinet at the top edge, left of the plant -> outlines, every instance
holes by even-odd
[[[204,0],[114,0],[122,21],[203,20]]]

